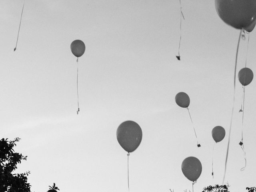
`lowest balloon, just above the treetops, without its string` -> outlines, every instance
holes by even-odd
[[[188,180],[194,182],[202,172],[202,164],[196,157],[187,157],[181,164],[181,170]]]

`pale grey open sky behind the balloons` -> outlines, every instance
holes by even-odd
[[[181,60],[179,0],[26,0],[17,50],[22,0],[0,1],[0,133],[22,140],[26,172],[35,192],[56,183],[61,192],[128,191],[127,152],[116,129],[133,120],[142,128],[140,146],[129,157],[130,192],[192,190],[181,171],[195,156],[202,174],[194,192],[222,184],[233,106],[234,66],[240,31],[218,16],[214,1],[182,0]],[[256,34],[250,33],[247,67],[256,70]],[[77,115],[76,58],[80,39]],[[238,71],[246,60],[248,34],[240,41]],[[236,79],[238,80],[238,79]],[[255,186],[256,84],[246,86],[244,171],[241,139],[243,89],[236,81],[234,116],[225,183],[230,191]],[[174,98],[190,97],[190,114]],[[212,128],[223,126],[215,144]],[[212,178],[212,155],[214,178]]]

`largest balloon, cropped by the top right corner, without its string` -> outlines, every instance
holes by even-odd
[[[237,29],[247,28],[256,19],[255,0],[215,0],[215,8],[226,24]]]

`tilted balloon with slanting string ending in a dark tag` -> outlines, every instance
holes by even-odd
[[[196,135],[196,129],[194,127],[194,123],[192,121],[190,111],[189,111],[189,108],[188,108],[188,106],[190,104],[190,98],[189,98],[188,94],[186,94],[185,92],[179,92],[175,96],[175,102],[178,106],[180,106],[182,108],[186,108],[188,110],[188,114],[189,114],[193,129],[194,129],[194,133],[195,133],[195,136],[196,136],[197,146],[200,147],[201,145],[198,143],[198,138],[197,138],[197,135]]]

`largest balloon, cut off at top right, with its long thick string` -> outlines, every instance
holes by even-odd
[[[226,176],[226,168],[228,161],[228,152],[230,144],[230,132],[232,128],[232,119],[234,114],[234,102],[235,102],[235,89],[236,89],[236,66],[238,58],[238,48],[240,43],[240,38],[243,30],[248,32],[252,31],[256,23],[256,1],[255,0],[215,0],[215,8],[218,16],[228,25],[240,29],[238,45],[236,48],[236,62],[234,69],[234,93],[233,93],[233,106],[230,120],[230,128],[228,134],[228,147],[226,152],[225,170],[222,180],[224,183]]]

